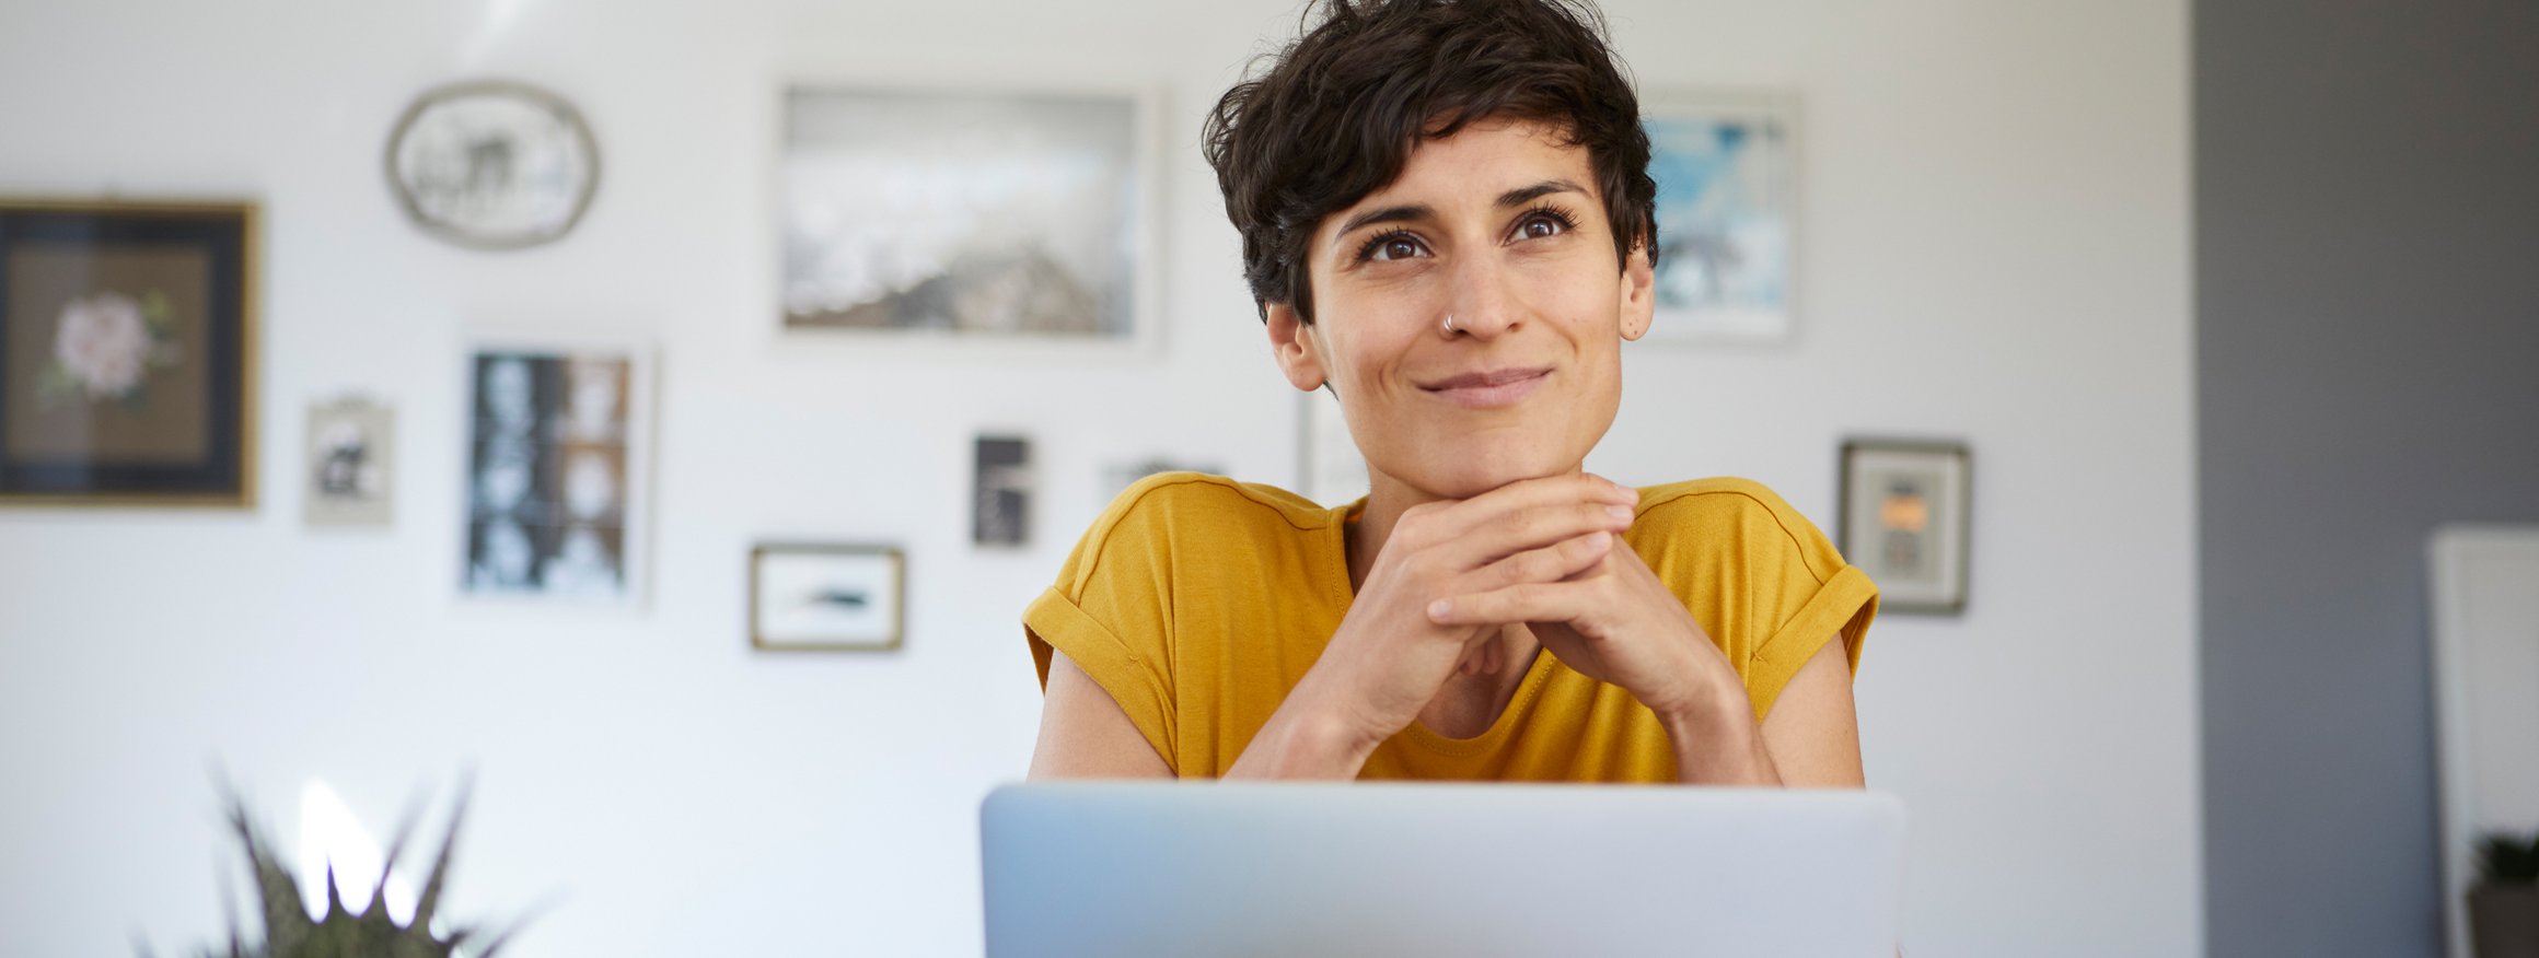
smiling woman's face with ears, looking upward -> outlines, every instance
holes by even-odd
[[[1648,256],[1615,264],[1587,147],[1528,122],[1422,142],[1305,256],[1315,322],[1270,304],[1270,340],[1295,388],[1338,393],[1379,494],[1468,499],[1577,471],[1653,307]]]

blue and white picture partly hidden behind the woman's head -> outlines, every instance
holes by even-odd
[[[1643,99],[1658,180],[1658,317],[1643,342],[1787,342],[1798,312],[1798,106],[1780,94]]]

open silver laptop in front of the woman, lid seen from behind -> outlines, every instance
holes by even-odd
[[[980,806],[988,955],[1897,953],[1866,791],[1127,783]]]

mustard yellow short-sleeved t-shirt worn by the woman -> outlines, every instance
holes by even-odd
[[[1023,611],[1041,684],[1056,646],[1173,773],[1224,776],[1348,613],[1346,530],[1358,507],[1191,471],[1137,482]],[[1876,585],[1772,489],[1747,479],[1640,489],[1622,540],[1744,677],[1757,720],[1836,634],[1859,674]],[[1676,781],[1676,755],[1630,692],[1544,651],[1480,738],[1412,722],[1361,778]]]

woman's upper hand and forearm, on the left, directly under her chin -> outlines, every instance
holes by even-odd
[[[1440,621],[1429,616],[1435,601],[1592,573],[1627,552],[1617,532],[1630,527],[1633,504],[1638,492],[1612,482],[1554,476],[1407,509],[1323,656],[1229,773],[1353,776],[1376,745],[1419,717],[1468,656],[1483,654],[1478,646],[1501,623],[1521,621]],[[1310,760],[1280,758],[1290,753]]]

